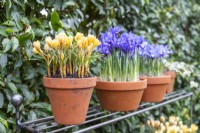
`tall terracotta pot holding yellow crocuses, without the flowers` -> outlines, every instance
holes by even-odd
[[[43,78],[54,119],[63,125],[85,121],[96,78]]]

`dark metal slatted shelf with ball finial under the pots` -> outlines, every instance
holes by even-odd
[[[16,133],[19,133],[20,128],[32,133],[58,133],[58,132],[73,132],[84,133],[106,125],[111,125],[111,131],[113,132],[113,124],[117,121],[124,120],[126,118],[144,113],[158,108],[161,111],[161,107],[176,102],[181,99],[190,97],[190,122],[192,123],[192,111],[193,111],[193,93],[187,93],[185,91],[173,92],[167,94],[164,100],[160,103],[141,103],[140,107],[135,111],[130,112],[109,112],[100,108],[100,106],[90,107],[87,113],[86,121],[80,125],[59,125],[54,121],[53,116],[41,118],[37,120],[21,122],[19,120],[19,107],[22,104],[23,98],[20,95],[12,97],[12,104],[16,108]],[[95,123],[95,124],[94,124]],[[80,128],[78,130],[74,129]]]

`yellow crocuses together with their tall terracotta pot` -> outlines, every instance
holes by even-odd
[[[57,123],[72,125],[85,121],[96,85],[96,77],[89,74],[89,67],[91,59],[98,54],[94,49],[99,44],[93,35],[77,33],[73,37],[63,32],[53,40],[47,37],[44,47],[39,41],[33,43],[33,52],[47,64],[48,75],[43,78],[43,84]]]

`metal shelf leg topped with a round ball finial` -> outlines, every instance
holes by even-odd
[[[21,106],[23,102],[23,98],[21,95],[16,94],[14,96],[12,96],[11,98],[11,103],[13,104],[13,106],[15,107],[15,117],[16,117],[16,133],[20,132],[20,127],[19,127],[19,119],[20,119],[20,112],[19,112],[19,108]]]

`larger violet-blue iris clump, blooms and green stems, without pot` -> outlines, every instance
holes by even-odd
[[[101,74],[103,81],[137,81],[139,79],[138,50],[145,42],[142,36],[122,32],[120,27],[110,27],[101,33]]]

